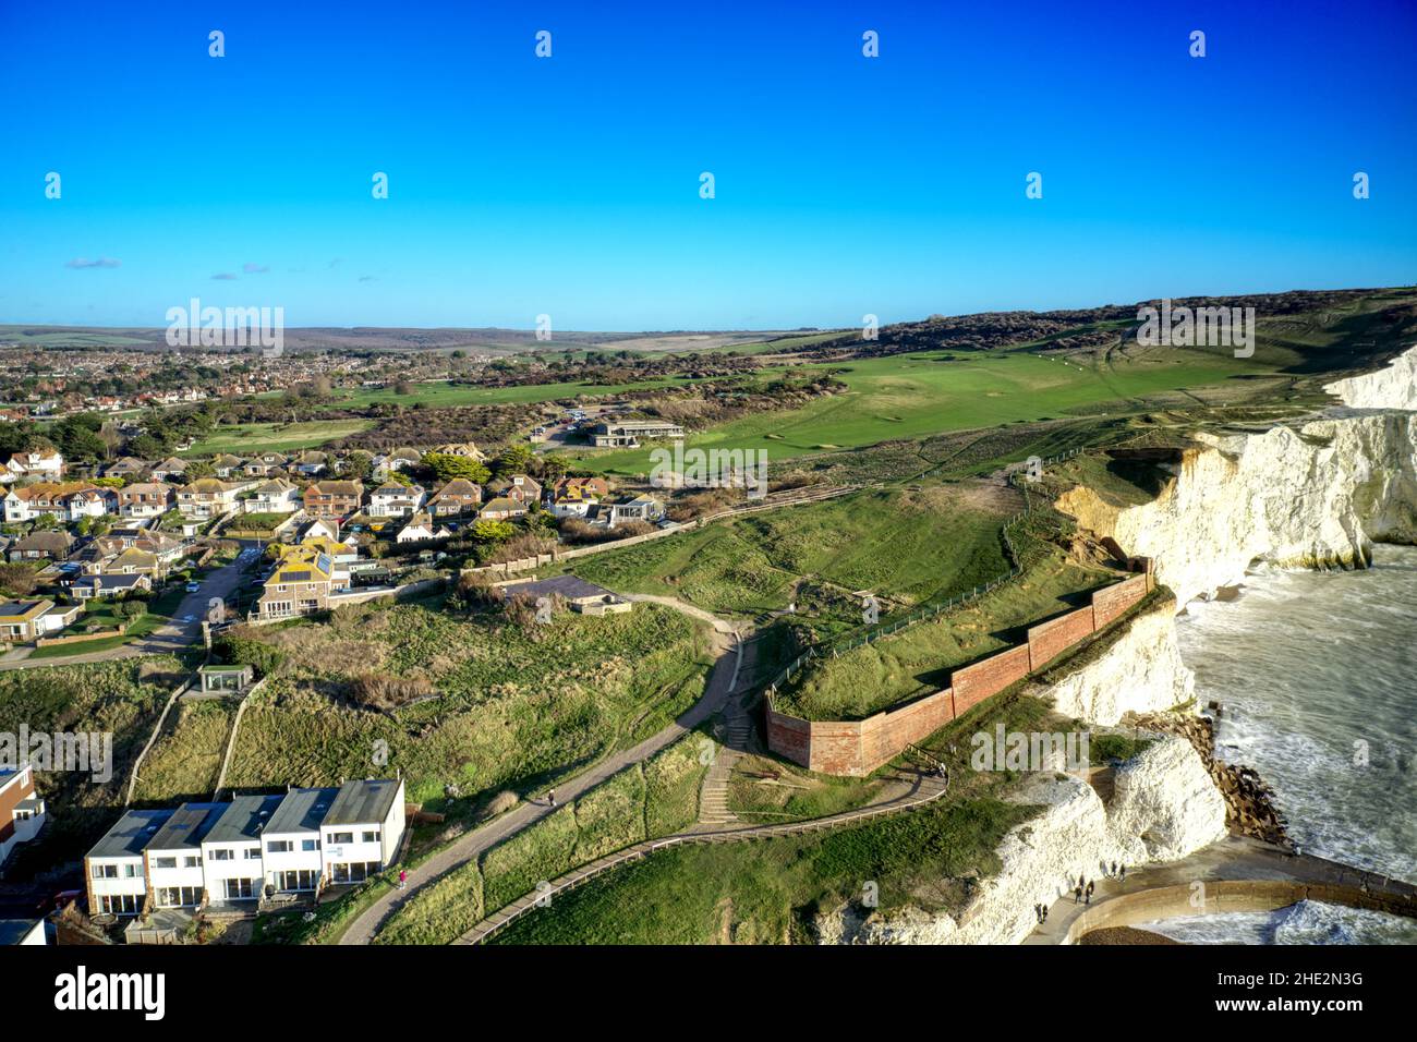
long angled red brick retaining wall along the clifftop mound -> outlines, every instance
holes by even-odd
[[[803,720],[777,712],[769,696],[768,749],[823,774],[870,774],[900,756],[907,746],[922,741],[981,702],[1041,669],[1141,601],[1155,588],[1155,578],[1151,561],[1134,560],[1144,574],[1095,591],[1088,607],[1032,627],[1024,644],[955,669],[948,688],[898,709],[864,720]]]

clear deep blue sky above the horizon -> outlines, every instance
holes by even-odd
[[[768,329],[1417,282],[1417,6],[922,7],[3,4],[0,322]]]

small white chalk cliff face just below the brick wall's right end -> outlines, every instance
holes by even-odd
[[[1180,661],[1175,605],[1134,617],[1095,659],[1044,690],[1064,716],[1112,726],[1124,713],[1155,713],[1190,702],[1196,676]]]

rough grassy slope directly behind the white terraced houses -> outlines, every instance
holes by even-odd
[[[380,750],[411,801],[470,814],[649,737],[697,700],[711,663],[707,627],[657,605],[534,631],[439,608],[351,605],[254,631],[279,665],[242,719],[230,784],[334,784],[367,775]],[[360,707],[351,689],[370,676],[417,703]]]

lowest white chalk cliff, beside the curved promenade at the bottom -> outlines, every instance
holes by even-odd
[[[1043,773],[1015,797],[1043,812],[1012,829],[999,846],[998,875],[956,921],[907,907],[859,919],[849,909],[819,920],[823,943],[1017,944],[1037,924],[1033,906],[1071,893],[1080,878],[1102,866],[1175,861],[1226,832],[1226,808],[1190,743],[1165,736],[1118,770],[1117,792],[1104,805],[1085,781]]]

